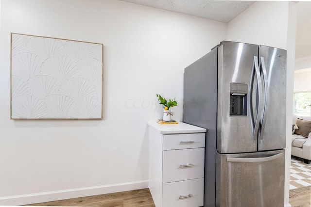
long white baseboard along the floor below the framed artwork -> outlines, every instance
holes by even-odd
[[[78,198],[90,195],[100,195],[113,192],[132,191],[148,188],[148,180],[117,183],[112,185],[76,188],[61,191],[48,191],[32,194],[0,197],[0,206],[20,206],[49,201],[57,201],[70,198]]]

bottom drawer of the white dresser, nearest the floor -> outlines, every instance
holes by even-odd
[[[204,178],[163,184],[162,207],[203,206]]]

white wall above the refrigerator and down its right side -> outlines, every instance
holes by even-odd
[[[291,163],[291,125],[293,107],[293,74],[296,6],[287,1],[257,1],[228,23],[227,39],[287,49],[287,102],[285,149],[285,206],[289,204]]]

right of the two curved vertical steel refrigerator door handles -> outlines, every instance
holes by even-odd
[[[263,108],[263,115],[262,115],[262,123],[260,128],[260,140],[263,140],[263,132],[264,128],[266,126],[266,108],[269,105],[269,96],[268,96],[268,89],[269,89],[269,83],[268,83],[268,75],[267,75],[267,69],[266,64],[264,63],[264,57],[260,57],[261,60],[261,68],[262,68],[262,75],[263,75],[263,85],[264,85],[264,108]]]

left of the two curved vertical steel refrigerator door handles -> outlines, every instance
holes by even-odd
[[[257,87],[258,90],[258,109],[261,109],[261,92],[262,92],[262,83],[261,83],[261,76],[260,76],[260,70],[259,70],[259,64],[258,64],[258,57],[254,56],[254,68],[255,68],[255,75],[257,78]],[[253,83],[252,83],[253,84]],[[253,87],[251,88],[251,94],[250,94],[250,99],[252,99],[252,94],[253,94]],[[257,95],[256,95],[257,96]],[[252,104],[251,104],[252,105]],[[252,107],[251,107],[251,114],[252,114]],[[253,120],[253,118],[251,117],[251,119]],[[254,123],[254,121],[252,121],[252,123]],[[259,130],[259,124],[260,124],[260,116],[259,116],[259,110],[256,110],[256,119],[255,119],[255,124],[253,124],[253,140],[257,140],[257,135],[258,135],[258,130]]]

